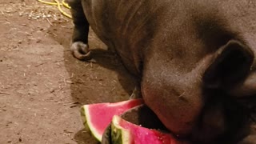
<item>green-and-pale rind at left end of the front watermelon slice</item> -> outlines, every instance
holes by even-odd
[[[130,130],[126,130],[119,125],[122,119],[114,115],[111,122],[111,142],[112,144],[130,144]]]

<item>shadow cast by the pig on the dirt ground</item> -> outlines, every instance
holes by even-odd
[[[70,38],[72,24],[66,22],[65,26],[51,26],[49,32],[52,38],[64,48],[63,58],[66,70],[70,74],[71,96],[77,106],[97,102],[120,102],[129,98],[136,80],[130,75],[119,58],[106,51],[106,46],[90,32],[90,48],[96,49],[93,58],[96,63],[78,61],[70,54]],[[56,36],[57,35],[57,36]],[[98,143],[85,130],[78,131],[74,139],[78,144]]]

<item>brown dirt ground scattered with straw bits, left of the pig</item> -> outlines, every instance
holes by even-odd
[[[80,106],[119,102],[134,88],[114,54],[70,54],[72,21],[34,0],[0,1],[0,143],[97,143]],[[90,33],[90,47],[106,46]]]

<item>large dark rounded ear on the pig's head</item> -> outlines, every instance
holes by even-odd
[[[216,52],[214,62],[203,75],[204,86],[225,88],[234,86],[250,72],[253,51],[237,40],[230,40]]]

